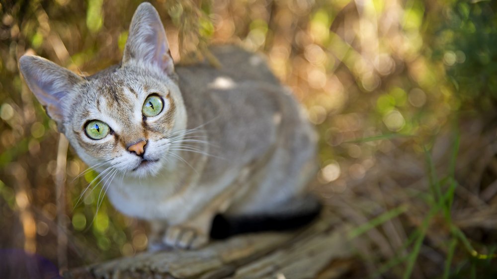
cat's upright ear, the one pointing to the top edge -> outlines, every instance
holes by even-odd
[[[147,2],[138,6],[131,20],[122,63],[131,60],[158,66],[166,73],[174,71],[161,18],[154,6]]]

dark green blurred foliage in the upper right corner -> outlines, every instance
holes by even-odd
[[[456,0],[442,9],[435,39],[436,59],[466,108],[495,109],[497,104],[496,1]]]

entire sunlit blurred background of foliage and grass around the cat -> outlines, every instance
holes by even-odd
[[[221,43],[267,57],[319,131],[313,189],[338,216],[360,225],[398,212],[371,226],[371,241],[357,241],[357,278],[398,278],[411,263],[413,278],[445,276],[444,267],[461,278],[491,272],[495,1],[151,2],[176,62],[209,58],[207,46]],[[17,64],[25,53],[82,74],[118,63],[139,3],[2,1],[0,248],[42,255],[61,269],[146,249],[145,223],[106,199],[96,212],[99,186],[77,204],[95,173],[59,142]],[[433,206],[434,185],[450,197],[441,202],[447,212]]]

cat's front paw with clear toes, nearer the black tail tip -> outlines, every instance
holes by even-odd
[[[209,242],[207,233],[189,226],[170,226],[167,228],[163,243],[171,248],[198,249]]]

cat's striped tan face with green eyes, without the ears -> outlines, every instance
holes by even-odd
[[[77,91],[64,130],[80,157],[90,166],[106,162],[101,171],[113,166],[132,176],[157,174],[183,128],[176,84],[133,66],[84,81]]]

